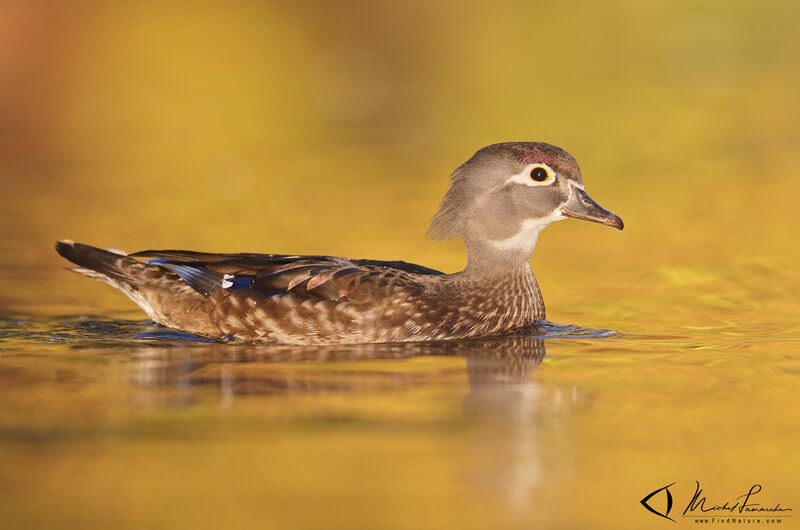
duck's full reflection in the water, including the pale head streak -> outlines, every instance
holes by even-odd
[[[447,411],[444,417],[456,417],[454,426],[459,430],[454,432],[459,434],[453,443],[463,444],[475,457],[460,464],[464,483],[474,484],[481,494],[499,497],[511,516],[517,513],[521,517],[531,509],[534,498],[547,496],[546,488],[540,487],[545,464],[548,469],[551,464],[564,469],[560,462],[564,440],[548,437],[547,447],[542,448],[540,427],[543,422],[549,425],[551,418],[565,412],[564,405],[575,399],[569,390],[543,385],[532,377],[545,357],[540,336],[356,346],[152,346],[137,351],[133,382],[179,389],[179,406],[207,399],[208,393],[202,389],[211,390],[223,406],[232,406],[237,399],[255,395],[373,396],[375,392],[441,386],[443,381],[464,388],[463,364],[458,368],[449,362],[441,363],[444,368],[422,364],[409,369],[397,363],[372,362],[420,357],[465,359],[468,389],[455,400],[434,406]],[[457,412],[459,403],[461,412]],[[414,417],[413,422],[417,421]],[[547,454],[546,461],[543,454]]]

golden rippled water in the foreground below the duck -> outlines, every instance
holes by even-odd
[[[0,329],[10,527],[639,527],[655,517],[641,498],[677,481],[688,502],[695,480],[797,499],[796,340],[549,324],[229,345],[102,316]]]

